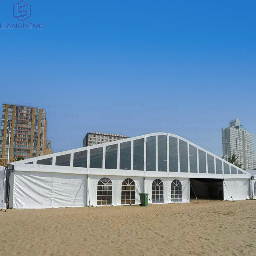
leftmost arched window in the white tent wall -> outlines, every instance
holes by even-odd
[[[102,178],[98,182],[97,205],[112,204],[112,181],[108,178]]]

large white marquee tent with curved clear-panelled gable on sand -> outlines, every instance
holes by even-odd
[[[140,204],[139,193],[154,204],[244,200],[251,176],[177,135],[151,133],[15,162],[9,207]]]

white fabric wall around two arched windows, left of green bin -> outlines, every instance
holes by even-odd
[[[139,193],[144,192],[143,177],[129,176],[108,176],[108,175],[89,175],[88,178],[88,197],[90,205],[97,206],[97,185],[101,178],[108,178],[112,182],[112,205],[121,205],[122,183],[125,179],[130,178],[135,182],[135,204],[140,204]]]

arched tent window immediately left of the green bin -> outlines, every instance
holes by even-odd
[[[121,204],[135,204],[135,182],[130,178],[122,183]]]

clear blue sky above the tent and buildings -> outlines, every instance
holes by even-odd
[[[27,3],[44,28],[0,29],[0,103],[45,108],[54,152],[159,131],[221,156],[229,120],[256,133],[255,1]]]

